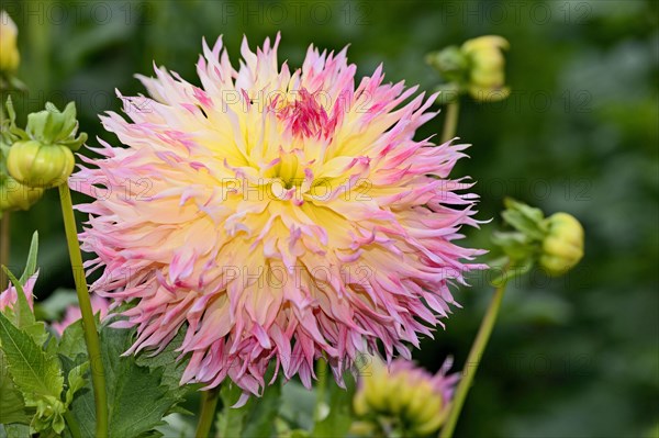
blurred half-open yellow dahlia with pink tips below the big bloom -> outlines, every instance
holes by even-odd
[[[360,370],[355,394],[355,413],[367,422],[359,425],[372,436],[368,420],[379,427],[388,424],[404,436],[426,436],[437,430],[450,407],[457,373],[447,374],[453,364],[447,359],[433,375],[413,362],[394,360],[389,367],[378,358]],[[400,429],[404,430],[400,430]]]

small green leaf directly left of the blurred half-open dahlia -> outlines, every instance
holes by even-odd
[[[355,393],[355,382],[346,375],[346,386],[339,388],[333,379],[327,379],[330,414],[314,425],[312,437],[345,437],[353,424],[350,406]]]

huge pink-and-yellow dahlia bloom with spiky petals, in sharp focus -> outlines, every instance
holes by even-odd
[[[70,187],[93,198],[82,249],[92,284],[134,327],[126,353],[164,349],[181,327],[181,383],[230,378],[260,394],[269,363],[305,385],[324,357],[339,382],[364,350],[410,357],[407,345],[449,313],[449,283],[479,268],[455,244],[477,226],[465,179],[447,179],[467,145],[414,139],[436,96],[356,87],[346,49],[311,46],[279,67],[266,40],[234,69],[222,40],[197,64],[201,86],[155,68],[150,98],[119,97]],[[154,351],[155,350],[155,351]]]

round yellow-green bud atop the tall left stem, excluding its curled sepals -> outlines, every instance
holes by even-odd
[[[33,188],[63,184],[74,171],[74,153],[66,146],[16,142],[9,149],[7,169],[16,181]]]

